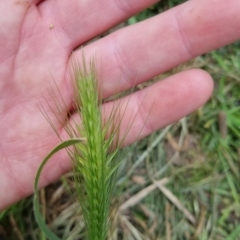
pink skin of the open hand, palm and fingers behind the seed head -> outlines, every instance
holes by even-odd
[[[191,0],[73,52],[154,2],[0,1],[0,210],[33,192],[37,168],[60,142],[40,109],[67,138],[64,126],[77,118],[70,72],[76,59],[81,63],[83,51],[86,60],[94,55],[100,63],[102,94],[109,97],[240,38],[239,0]],[[59,91],[54,94],[56,85]],[[132,114],[137,116],[125,144],[196,110],[212,89],[209,74],[193,69],[133,94],[123,125]],[[59,92],[65,102],[60,110]],[[66,121],[68,111],[72,115]],[[60,152],[46,166],[41,187],[70,168],[67,154]]]

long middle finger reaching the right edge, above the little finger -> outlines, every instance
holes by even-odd
[[[239,39],[240,1],[226,4],[225,0],[188,1],[84,47],[84,55],[95,56],[99,65],[103,96]],[[72,57],[81,62],[82,50]]]

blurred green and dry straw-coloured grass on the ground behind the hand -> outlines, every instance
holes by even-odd
[[[134,24],[183,0],[163,0],[132,17]],[[133,144],[119,174],[118,223],[111,239],[240,239],[240,43],[162,74],[202,68],[215,80],[211,99],[178,123]],[[144,86],[143,86],[144,87]],[[63,239],[82,239],[71,173],[41,190],[46,221]],[[0,213],[1,240],[44,240],[32,197]]]

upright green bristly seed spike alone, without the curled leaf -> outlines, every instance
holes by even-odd
[[[79,203],[83,211],[87,230],[87,239],[105,240],[108,234],[109,211],[113,192],[115,151],[110,148],[119,143],[119,125],[116,116],[119,111],[112,109],[110,119],[106,123],[102,120],[101,99],[98,93],[98,80],[94,64],[87,70],[86,64],[80,69],[74,68],[75,99],[77,112],[81,117],[81,125],[75,126],[79,135],[86,141],[75,147],[74,169]]]

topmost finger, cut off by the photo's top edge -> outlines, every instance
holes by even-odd
[[[105,32],[116,24],[158,0],[49,0],[40,11],[51,18],[55,29],[64,32],[64,40],[75,47]],[[52,21],[52,20],[51,20]]]

